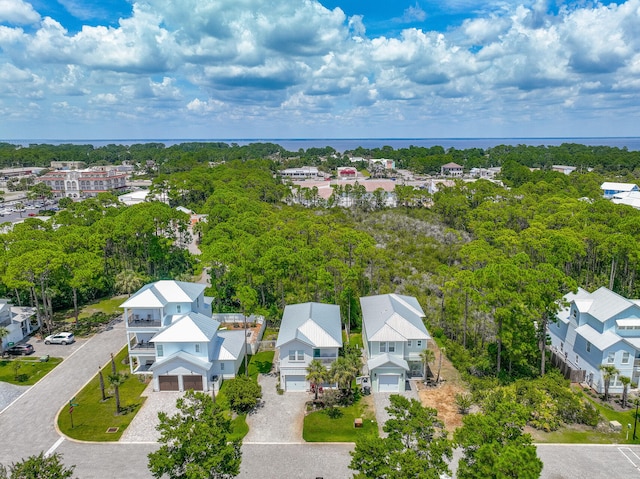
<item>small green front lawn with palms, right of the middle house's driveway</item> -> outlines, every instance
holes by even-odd
[[[378,423],[370,405],[371,396],[356,404],[337,408],[342,414],[330,417],[330,409],[316,411],[304,418],[302,437],[307,442],[356,442],[363,436],[377,436]],[[353,426],[356,418],[362,418],[362,427]]]

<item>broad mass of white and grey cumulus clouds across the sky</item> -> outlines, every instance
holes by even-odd
[[[424,20],[434,2],[416,2],[404,20]],[[51,105],[119,109],[122,118],[179,108],[284,122],[298,110],[330,123],[364,109],[380,122],[422,121],[426,110],[482,121],[493,108],[496,117],[531,118],[532,108],[554,114],[596,95],[600,109],[618,108],[622,92],[640,100],[640,0],[555,13],[544,0],[439,5],[474,14],[446,33],[372,37],[366,16],[316,0],[147,0],[117,24],[70,33],[23,0],[0,0],[2,73],[27,78],[11,86],[0,75],[0,101],[24,89]]]

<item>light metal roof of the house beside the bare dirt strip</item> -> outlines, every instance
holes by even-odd
[[[424,311],[413,296],[382,294],[360,298],[367,341],[430,339]]]

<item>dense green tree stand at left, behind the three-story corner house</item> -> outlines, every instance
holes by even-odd
[[[188,216],[154,202],[125,207],[109,194],[0,234],[0,295],[35,306],[47,330],[54,312],[145,282],[191,272]]]

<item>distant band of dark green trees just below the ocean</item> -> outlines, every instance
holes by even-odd
[[[439,174],[440,167],[455,162],[466,170],[503,166],[515,162],[528,168],[550,170],[552,165],[575,166],[580,171],[634,178],[640,176],[640,151],[610,146],[586,146],[564,143],[559,146],[498,145],[495,147],[444,149],[442,146],[393,149],[356,148],[340,154],[333,147],[312,147],[297,152],[287,151],[274,143],[238,145],[224,142],[187,142],[172,146],[163,143],[134,145],[47,145],[32,144],[26,148],[0,143],[0,168],[13,166],[49,166],[52,160],[84,161],[88,165],[108,165],[129,162],[151,176],[189,171],[198,166],[224,161],[271,159],[275,172],[284,167],[318,166],[332,171],[351,164],[350,157],[389,158],[396,167],[416,174]],[[365,167],[365,164],[359,165]]]

